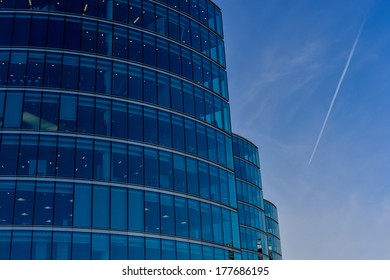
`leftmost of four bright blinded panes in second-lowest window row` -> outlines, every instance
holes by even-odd
[[[74,226],[90,227],[92,186],[76,184],[74,190]]]

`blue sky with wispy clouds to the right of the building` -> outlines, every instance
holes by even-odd
[[[260,149],[284,258],[390,259],[390,1],[215,3],[233,130]]]

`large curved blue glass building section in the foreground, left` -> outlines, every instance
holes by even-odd
[[[213,2],[3,0],[0,26],[0,259],[246,258]]]

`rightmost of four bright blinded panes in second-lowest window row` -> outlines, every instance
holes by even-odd
[[[129,189],[128,201],[129,201],[129,205],[128,205],[129,230],[144,231],[144,213],[145,213],[144,192],[139,190]]]

